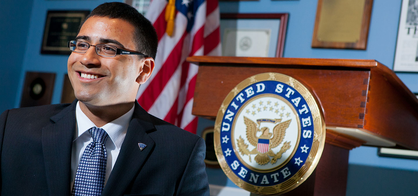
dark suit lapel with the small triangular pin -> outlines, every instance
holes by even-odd
[[[149,114],[135,101],[135,111],[129,123],[125,140],[120,148],[115,166],[110,173],[102,196],[122,195],[126,187],[135,179],[146,158],[152,153],[154,141],[148,133],[155,131]],[[140,151],[138,143],[147,146]]]

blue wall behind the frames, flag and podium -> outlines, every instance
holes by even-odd
[[[92,10],[104,2],[105,0],[0,0],[0,35],[3,38],[3,45],[0,47],[3,59],[0,63],[1,111],[20,105],[26,71],[56,73],[52,103],[60,102],[68,57],[40,54],[46,12]],[[284,57],[375,59],[393,68],[401,5],[399,0],[374,0],[367,50],[311,48],[316,0],[258,0],[220,2],[219,5],[221,13],[289,13]],[[4,40],[12,40],[8,42],[7,48],[4,47]],[[418,73],[397,75],[412,92],[418,93]],[[213,122],[201,120],[199,123],[201,131]],[[350,151],[349,163],[347,195],[410,195],[416,192],[413,182],[418,181],[418,161],[382,158],[377,156],[377,148],[359,147]],[[208,168],[207,171],[210,183],[236,187],[221,169]],[[377,178],[385,178],[385,181]],[[393,186],[399,188],[394,189]]]

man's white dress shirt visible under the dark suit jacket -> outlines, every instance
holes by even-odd
[[[130,119],[133,115],[135,105],[114,121],[105,124],[102,127],[106,131],[109,137],[106,141],[107,163],[106,163],[106,176],[104,178],[104,185],[106,185],[110,172],[115,165],[116,158],[119,155],[120,147],[125,139],[126,131],[129,126]],[[71,189],[74,184],[77,168],[79,166],[80,159],[83,156],[84,150],[87,145],[93,141],[92,136],[89,133],[89,129],[95,127],[94,123],[83,113],[80,108],[79,102],[76,106],[76,130],[73,136],[73,146],[71,151]]]

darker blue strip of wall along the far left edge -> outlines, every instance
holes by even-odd
[[[23,56],[26,50],[32,0],[0,1],[0,111],[15,106]],[[38,46],[35,45],[36,50]]]

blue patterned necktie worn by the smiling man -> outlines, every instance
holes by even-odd
[[[107,133],[102,128],[89,129],[93,141],[87,145],[80,159],[74,181],[73,196],[100,196],[104,187],[107,153],[104,148]]]

